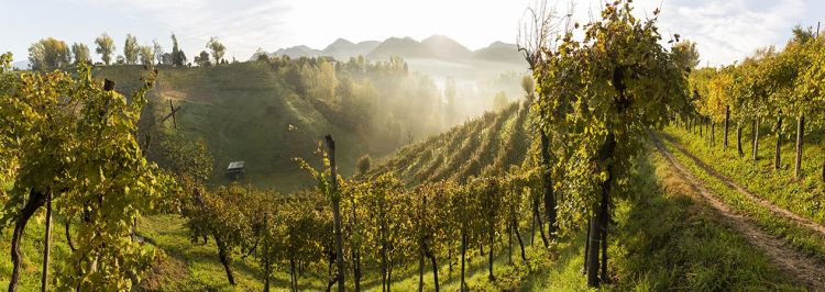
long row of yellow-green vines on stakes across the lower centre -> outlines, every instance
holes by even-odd
[[[449,263],[452,273],[453,266],[461,265],[461,284],[466,290],[465,262],[471,250],[487,257],[492,280],[496,250],[506,246],[512,255],[513,249],[520,249],[527,260],[522,225],[530,215],[539,215],[529,212],[539,200],[532,191],[540,189],[536,172],[514,168],[502,177],[408,188],[392,173],[349,180],[336,176],[333,182],[333,160],[324,157],[323,161],[320,170],[300,161],[319,182],[311,192],[279,194],[240,186],[207,191],[197,183],[186,184],[182,202],[191,239],[216,242],[230,283],[235,283],[233,260],[249,256],[262,269],[265,291],[277,268],[288,270],[290,289],[297,291],[299,267],[322,262],[328,263],[328,290],[339,277],[349,274],[360,291],[363,267],[374,263],[382,291],[389,291],[394,271],[411,262],[419,265],[421,288],[425,269],[432,269],[436,291],[440,267]],[[338,212],[330,202],[338,202]],[[337,218],[339,228],[334,227]],[[339,283],[339,288],[343,287]]]

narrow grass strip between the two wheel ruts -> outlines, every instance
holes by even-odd
[[[820,260],[825,260],[825,237],[821,234],[799,227],[795,223],[774,215],[767,207],[749,200],[738,191],[730,189],[722,180],[705,172],[693,159],[679,151],[671,142],[663,139],[663,144],[680,162],[686,166],[694,176],[702,179],[708,189],[727,205],[748,215],[760,228],[767,231],[769,234],[784,238],[798,250],[816,257]],[[702,158],[702,156],[698,157]]]

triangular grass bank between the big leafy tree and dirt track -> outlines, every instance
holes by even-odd
[[[616,290],[804,290],[685,195],[690,188],[661,156],[637,167],[630,198],[616,206]]]

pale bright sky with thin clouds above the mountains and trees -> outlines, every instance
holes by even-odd
[[[174,32],[189,59],[210,36],[227,46],[226,57],[246,60],[258,48],[308,45],[323,48],[339,37],[352,42],[447,35],[471,49],[496,41],[515,43],[525,9],[535,0],[3,0],[0,52],[24,60],[28,48],[48,36],[67,43],[94,41],[106,32],[122,54],[125,35],[172,50]],[[587,22],[603,0],[572,1],[575,18]],[[571,1],[548,0],[550,7]],[[823,0],[636,0],[636,14],[661,8],[659,31],[697,43],[702,65],[743,59],[759,47],[781,47],[791,29],[816,27]],[[593,11],[592,13],[590,13]],[[817,12],[818,15],[817,15]],[[825,29],[825,27],[823,27]]]

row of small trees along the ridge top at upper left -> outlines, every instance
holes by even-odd
[[[120,65],[142,64],[144,66],[153,66],[155,64],[168,66],[186,65],[186,54],[178,47],[175,34],[172,34],[172,53],[165,53],[157,40],[152,41],[152,45],[140,45],[138,37],[127,34],[123,44],[123,54],[114,57],[114,40],[109,34],[103,33],[95,38],[95,52],[100,55],[102,64],[107,66],[112,64],[112,61]],[[223,58],[227,48],[218,37],[212,36],[209,38],[206,48],[211,52],[212,58],[210,59],[210,54],[206,50],[200,52],[195,57],[195,63],[198,66],[227,64],[227,60]],[[48,37],[32,44],[29,48],[29,61],[32,64],[33,70],[48,71],[65,68],[73,64],[91,63],[91,55],[89,54],[89,47],[84,43],[74,43],[69,47],[63,41]]]

